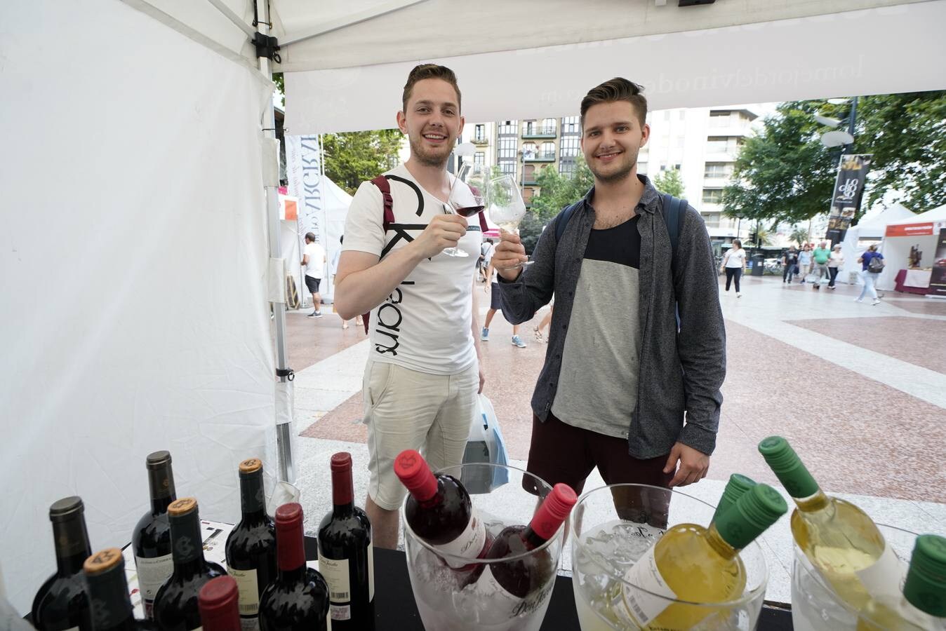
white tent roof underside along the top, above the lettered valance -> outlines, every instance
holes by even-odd
[[[146,2],[184,26],[244,54],[245,36],[208,0]],[[654,0],[426,0],[354,26],[295,43],[281,51],[285,71],[347,68],[393,61],[428,60],[539,46],[600,42],[705,28],[812,18],[857,9],[894,7],[922,0],[720,0],[699,7],[657,7]],[[253,0],[220,0],[247,24]],[[396,0],[270,0],[273,35],[281,41],[309,29]],[[425,36],[423,34],[432,34]],[[834,43],[864,42],[839,31]],[[854,33],[856,35],[856,33]],[[750,54],[746,51],[746,54]]]

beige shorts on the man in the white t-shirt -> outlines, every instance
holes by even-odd
[[[463,461],[479,385],[476,363],[455,375],[431,375],[368,362],[361,392],[374,503],[396,510],[404,502],[408,490],[394,475],[394,458],[406,449],[421,452],[433,470]]]

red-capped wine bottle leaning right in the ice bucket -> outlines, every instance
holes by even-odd
[[[486,558],[505,558],[535,550],[555,536],[577,501],[578,498],[570,486],[555,485],[535,511],[530,524],[503,528],[493,540]],[[541,550],[508,562],[490,563],[482,571],[477,588],[495,592],[498,596],[497,605],[511,605],[510,614],[516,616],[529,610],[528,602],[523,602],[523,599],[549,583],[556,569],[552,554],[549,554],[548,550]]]

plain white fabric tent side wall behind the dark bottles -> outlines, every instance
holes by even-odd
[[[101,549],[148,509],[151,451],[219,520],[238,518],[240,459],[276,470],[271,88],[114,0],[4,9],[0,556],[25,611],[55,568],[55,500],[82,497]]]

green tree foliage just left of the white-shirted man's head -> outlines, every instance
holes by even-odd
[[[361,182],[397,164],[401,138],[397,129],[326,134],[322,137],[325,175],[355,195]]]

